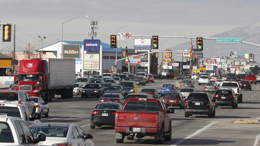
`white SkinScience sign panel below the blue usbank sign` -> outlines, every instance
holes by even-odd
[[[84,54],[84,70],[99,70],[99,54]]]

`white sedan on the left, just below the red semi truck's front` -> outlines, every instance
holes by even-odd
[[[41,97],[30,97],[32,101],[35,103],[36,111],[40,115],[44,115],[45,117],[49,117],[49,106],[48,103],[45,102]]]

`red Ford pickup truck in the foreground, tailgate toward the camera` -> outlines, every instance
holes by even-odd
[[[157,144],[163,139],[170,141],[172,126],[170,113],[163,101],[150,98],[129,98],[121,111],[116,112],[115,132],[116,143],[123,143],[124,138],[131,140],[144,136],[154,136]]]

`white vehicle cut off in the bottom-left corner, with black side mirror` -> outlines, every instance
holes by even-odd
[[[46,136],[37,133],[36,138],[25,122],[18,117],[0,115],[0,145],[38,146],[40,141],[45,141]]]

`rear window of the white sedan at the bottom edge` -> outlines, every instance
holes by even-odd
[[[67,137],[68,128],[67,127],[53,127],[49,126],[40,126],[40,127],[30,127],[31,132],[36,136],[37,133],[43,133],[46,137]]]

